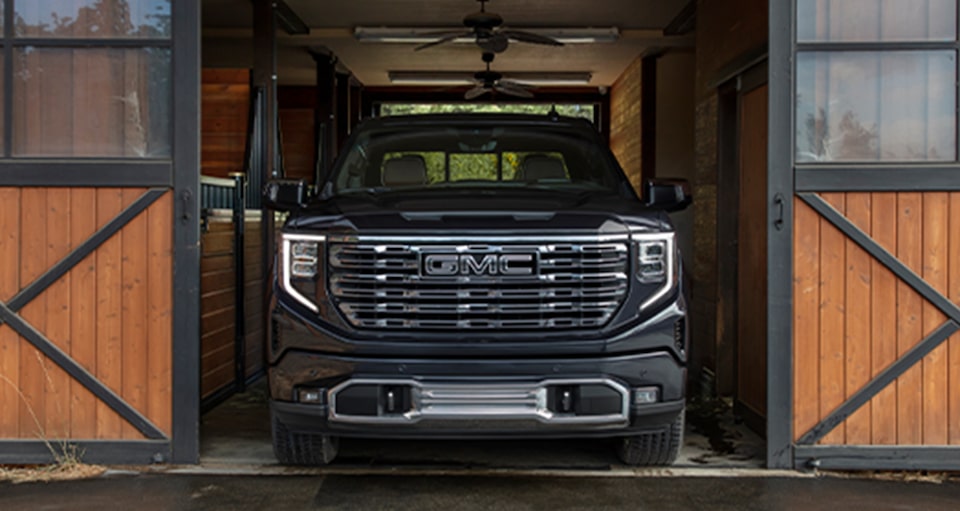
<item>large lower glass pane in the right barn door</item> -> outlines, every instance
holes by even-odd
[[[797,161],[956,158],[953,51],[797,55]]]

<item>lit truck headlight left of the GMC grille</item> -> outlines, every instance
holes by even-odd
[[[325,241],[324,236],[312,234],[280,235],[280,285],[313,312],[319,312],[317,291],[323,286],[317,281]]]

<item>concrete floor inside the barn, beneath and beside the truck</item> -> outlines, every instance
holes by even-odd
[[[267,389],[263,380],[205,414],[201,423],[200,462],[204,467],[276,466],[270,443]],[[710,412],[712,413],[712,412]],[[708,416],[709,415],[709,416]],[[736,423],[698,410],[688,413],[679,468],[760,468],[763,440]],[[344,439],[330,467],[351,469],[522,469],[625,471],[608,440],[422,441]],[[260,472],[262,473],[262,472]]]

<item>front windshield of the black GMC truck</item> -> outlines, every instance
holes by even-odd
[[[334,194],[450,188],[616,193],[624,178],[603,145],[539,127],[383,129],[358,137],[330,178]]]

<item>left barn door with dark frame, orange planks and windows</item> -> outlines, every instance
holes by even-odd
[[[0,463],[192,462],[198,3],[5,4]]]

